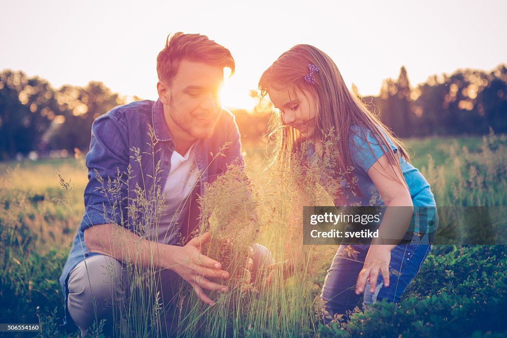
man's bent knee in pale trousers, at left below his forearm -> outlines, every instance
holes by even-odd
[[[109,256],[91,256],[76,265],[67,283],[68,312],[74,322],[87,328],[96,317],[110,318],[125,295],[125,277],[122,264]]]

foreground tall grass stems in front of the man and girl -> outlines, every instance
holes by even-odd
[[[137,172],[140,175],[151,175],[158,182],[162,175],[159,163],[154,165],[154,172],[149,174],[143,173],[141,167],[141,156],[155,155],[157,141],[153,134],[150,137],[153,152],[141,154],[133,148],[132,158],[139,165]],[[215,158],[218,156],[221,154],[216,154]],[[264,237],[271,254],[279,259],[287,254],[294,255],[290,249],[301,247],[302,207],[330,203],[329,198],[322,200],[329,196],[317,184],[322,179],[322,165],[325,164],[293,166],[291,173],[273,171],[269,176],[270,182],[264,182],[262,193],[248,180],[238,164],[230,165],[224,175],[205,186],[205,194],[200,199],[199,230],[201,234],[210,232],[212,241],[203,248],[203,254],[220,260],[231,276],[227,281],[230,292],[210,292],[210,297],[216,301],[211,308],[198,299],[188,283],[181,284],[177,297],[163,301],[157,293],[163,281],[157,274],[154,261],[151,266],[140,268],[139,252],[127,251],[122,239],[118,238],[115,250],[120,251],[121,257],[126,257],[124,265],[128,273],[130,297],[114,307],[118,309],[113,316],[114,335],[159,336],[168,330],[174,332],[174,327],[164,327],[167,322],[172,322],[177,323],[176,333],[179,336],[256,336],[267,333],[275,336],[311,336],[315,332],[316,322],[315,316],[308,314],[313,313],[318,292],[318,288],[312,284],[312,276],[316,258],[325,256],[318,253],[324,250],[329,256],[329,248],[306,250],[306,254],[298,261],[300,271],[288,283],[283,280],[281,265],[273,272],[270,287],[264,286],[262,278],[257,283],[251,283],[244,258],[248,246],[259,235]],[[96,173],[102,184],[100,191],[107,196],[111,205],[111,211],[104,217],[110,223],[121,219],[122,227],[134,229],[140,239],[153,240],[151,234],[158,233],[164,212],[164,196],[160,189],[149,192],[146,188],[136,186],[135,196],[127,200],[122,190],[128,190],[133,172],[128,167],[125,173],[118,173],[116,178],[101,178]],[[304,191],[294,189],[295,186],[303,187]],[[267,191],[266,187],[276,189]],[[128,217],[125,218],[121,206],[127,202]],[[269,228],[261,226],[268,223]],[[91,229],[93,231],[93,227]],[[139,292],[139,288],[142,291]],[[164,313],[163,308],[170,308],[171,311]],[[171,315],[177,316],[177,321],[175,318],[167,321],[165,316]]]

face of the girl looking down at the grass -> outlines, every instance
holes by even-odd
[[[280,110],[285,125],[298,129],[305,139],[315,136],[317,103],[309,91],[278,90],[268,86],[268,94],[275,108]]]

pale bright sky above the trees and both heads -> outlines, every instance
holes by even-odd
[[[378,95],[402,65],[415,86],[433,74],[507,62],[504,1],[0,0],[0,12],[0,70],[38,75],[55,88],[102,81],[146,99],[158,98],[156,57],[167,35],[207,35],[236,60],[224,104],[246,109],[262,72],[300,43],[329,54],[361,95]]]

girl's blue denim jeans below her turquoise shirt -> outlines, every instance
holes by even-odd
[[[373,304],[377,300],[399,302],[402,293],[419,272],[432,245],[428,244],[428,234],[413,236],[411,244],[398,245],[391,251],[389,263],[389,286],[385,287],[382,275],[377,280],[375,292],[370,292],[370,282],[366,283],[363,304]],[[335,315],[348,319],[361,295],[355,294],[357,276],[365,262],[370,245],[341,245],[325,277],[322,287],[322,311],[325,324]]]

